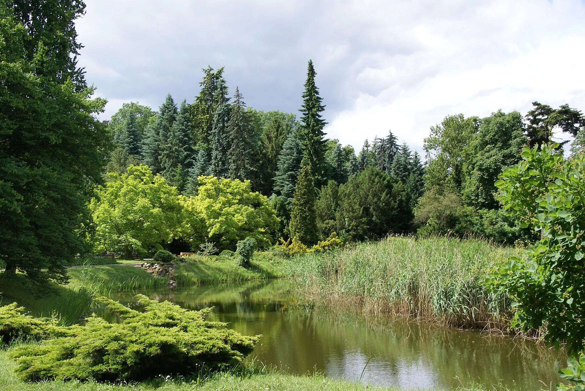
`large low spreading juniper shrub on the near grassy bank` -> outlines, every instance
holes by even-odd
[[[16,373],[27,381],[188,375],[201,366],[221,369],[238,364],[260,338],[206,321],[211,309],[191,311],[136,297],[142,311],[105,297],[96,299],[116,313],[119,323],[92,316],[85,326],[68,327],[71,333],[64,337],[16,347],[9,353],[18,362]]]

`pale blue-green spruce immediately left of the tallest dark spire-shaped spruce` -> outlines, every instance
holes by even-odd
[[[284,141],[283,149],[278,157],[278,171],[274,177],[274,193],[282,196],[287,205],[291,205],[301,171],[302,147],[297,133],[291,132]]]

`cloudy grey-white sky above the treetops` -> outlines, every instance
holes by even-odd
[[[225,67],[248,106],[298,114],[307,61],[329,138],[386,136],[422,151],[447,115],[525,115],[531,102],[585,111],[582,0],[85,0],[79,64],[101,119],[124,102],[194,101]]]

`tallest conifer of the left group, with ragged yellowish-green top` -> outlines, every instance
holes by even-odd
[[[211,154],[211,133],[214,128],[215,112],[218,105],[227,101],[228,87],[223,78],[223,67],[214,72],[214,68],[208,65],[202,69],[203,80],[199,82],[201,91],[195,97],[195,102],[190,106],[194,140],[198,150],[205,150]]]

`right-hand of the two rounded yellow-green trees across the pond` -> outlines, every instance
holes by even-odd
[[[250,181],[201,176],[197,196],[183,199],[183,204],[183,236],[194,249],[209,241],[220,250],[233,251],[246,237],[266,248],[278,229],[268,198],[252,192]]]

